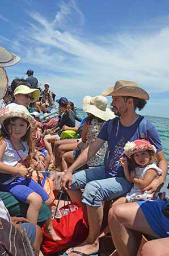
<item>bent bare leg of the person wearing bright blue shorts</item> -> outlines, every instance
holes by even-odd
[[[114,205],[109,210],[108,222],[113,243],[120,256],[136,256],[141,233],[157,237],[137,203]]]

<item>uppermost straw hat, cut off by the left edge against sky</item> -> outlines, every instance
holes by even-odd
[[[20,61],[20,57],[0,46],[0,67],[10,67]]]

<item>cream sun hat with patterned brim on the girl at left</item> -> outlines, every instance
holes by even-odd
[[[0,125],[3,125],[3,122],[12,117],[19,117],[26,120],[32,129],[36,128],[36,121],[35,118],[28,112],[27,108],[23,105],[18,105],[15,103],[11,103],[5,108],[3,108],[0,112]]]

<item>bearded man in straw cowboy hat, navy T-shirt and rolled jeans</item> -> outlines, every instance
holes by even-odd
[[[87,147],[77,160],[67,169],[62,177],[61,186],[67,189],[74,204],[82,206],[87,214],[89,233],[81,245],[69,249],[69,256],[91,255],[99,250],[98,237],[103,220],[103,200],[115,200],[130,191],[130,184],[124,177],[119,159],[124,154],[124,145],[128,141],[145,138],[157,148],[158,166],[163,174],[155,179],[149,187],[143,188],[150,193],[156,191],[164,183],[167,163],[162,151],[162,145],[157,130],[149,121],[136,113],[141,110],[149,94],[140,88],[136,82],[117,81],[102,93],[112,96],[112,108],[116,118],[107,121],[98,138]],[[109,155],[105,166],[76,172],[108,141]],[[83,194],[81,188],[84,188]],[[86,211],[87,208],[87,211]],[[77,253],[73,253],[77,251]],[[82,254],[83,253],[83,254]]]

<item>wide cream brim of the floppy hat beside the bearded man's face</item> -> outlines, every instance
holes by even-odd
[[[104,121],[108,121],[109,119],[115,118],[115,114],[109,109],[108,107],[105,109],[105,111],[97,108],[95,105],[91,105],[92,97],[86,96],[83,98],[83,111],[86,113],[90,113],[95,115],[95,117],[99,117],[100,119]]]

